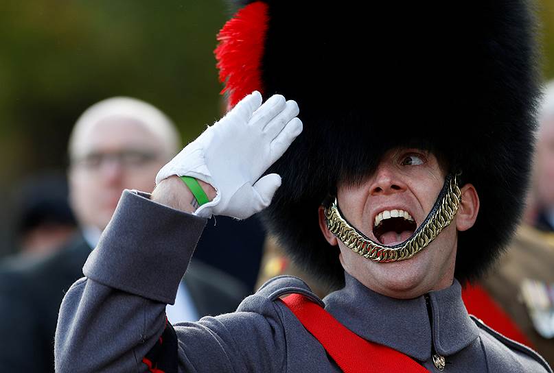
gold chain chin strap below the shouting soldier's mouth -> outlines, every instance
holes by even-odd
[[[380,245],[367,237],[363,237],[358,231],[350,226],[338,211],[336,198],[328,208],[325,208],[327,228],[340,239],[347,248],[357,252],[364,258],[376,262],[404,261],[411,258],[434,240],[441,230],[452,222],[458,212],[461,201],[461,191],[458,187],[456,176],[450,178],[450,186],[444,195],[439,208],[435,214],[428,219],[422,229],[417,231],[410,239],[400,247]]]

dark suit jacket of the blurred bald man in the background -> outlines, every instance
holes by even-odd
[[[81,278],[91,253],[81,235],[38,263],[12,261],[0,269],[1,370],[54,372],[54,334],[65,292]],[[185,276],[198,315],[234,311],[247,295],[238,281],[203,263],[192,263]]]

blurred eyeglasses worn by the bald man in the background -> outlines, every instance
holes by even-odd
[[[132,168],[146,165],[156,160],[159,154],[154,152],[145,152],[142,150],[128,149],[121,152],[92,152],[71,160],[71,164],[83,169],[96,170],[108,162],[115,162],[124,168]]]

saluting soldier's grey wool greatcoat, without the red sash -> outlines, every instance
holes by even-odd
[[[164,330],[205,219],[124,192],[86,278],[67,292],[56,330],[56,372],[148,372],[142,357]],[[221,248],[227,250],[227,248]],[[375,293],[348,274],[323,301],[299,279],[270,280],[235,313],[177,324],[179,372],[339,372],[277,299],[303,293],[369,341],[404,352],[431,372],[552,372],[535,352],[468,315],[457,281],[412,300]],[[426,302],[427,301],[427,302]]]

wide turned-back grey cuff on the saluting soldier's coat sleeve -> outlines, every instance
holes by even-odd
[[[110,224],[84,263],[84,276],[128,293],[174,304],[206,219],[124,191]]]

